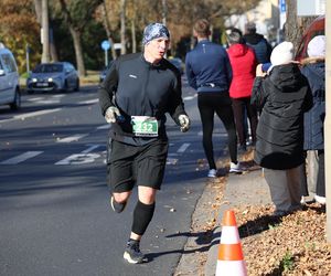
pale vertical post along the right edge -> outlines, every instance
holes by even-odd
[[[325,1],[325,34],[331,32],[331,2]],[[327,35],[325,52],[325,121],[324,121],[324,170],[327,195],[327,241],[331,243],[331,36]],[[328,93],[329,92],[329,93]]]

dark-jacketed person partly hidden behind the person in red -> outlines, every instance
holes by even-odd
[[[256,24],[254,22],[246,23],[244,39],[246,44],[254,49],[257,63],[270,62],[273,47],[264,35],[256,32]]]

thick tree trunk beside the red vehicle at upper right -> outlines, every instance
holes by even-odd
[[[286,23],[285,23],[285,39],[295,45],[295,52],[299,46],[299,42],[306,28],[313,21],[316,17],[297,17],[297,0],[286,1]]]

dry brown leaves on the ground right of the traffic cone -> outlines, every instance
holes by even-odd
[[[235,210],[248,275],[330,275],[325,209],[317,203],[275,219],[271,206]]]

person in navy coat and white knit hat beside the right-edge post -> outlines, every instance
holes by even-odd
[[[307,180],[313,188],[316,187],[316,201],[325,204],[323,136],[325,117],[325,36],[314,36],[308,44],[307,53],[309,57],[302,61],[301,73],[308,78],[313,97],[312,108],[305,114],[305,150],[308,155]],[[317,164],[312,163],[314,160],[317,160]],[[311,168],[317,170],[316,177]]]

